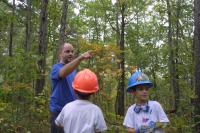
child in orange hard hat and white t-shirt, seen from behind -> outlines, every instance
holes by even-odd
[[[99,90],[97,76],[89,69],[77,73],[72,83],[78,99],[66,104],[55,120],[65,133],[95,133],[107,130],[101,109],[88,101]]]

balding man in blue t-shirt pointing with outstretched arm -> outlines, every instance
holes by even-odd
[[[91,51],[87,51],[74,58],[74,48],[69,43],[60,47],[60,62],[54,64],[50,78],[52,82],[52,93],[50,98],[51,133],[64,133],[63,129],[55,125],[55,119],[65,104],[76,99],[72,88],[72,81],[76,75],[76,67],[82,60],[89,59]]]

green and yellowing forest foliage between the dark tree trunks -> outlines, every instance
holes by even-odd
[[[173,44],[178,48],[177,73],[180,86],[180,105],[176,113],[168,114],[170,125],[166,132],[195,132],[191,127],[194,113],[191,99],[196,97],[193,89],[193,0],[182,1],[177,18],[177,1],[172,4]],[[56,62],[59,40],[62,1],[50,0],[48,5],[48,56],[46,86],[35,96],[40,59],[38,51],[38,28],[41,1],[32,1],[31,49],[25,51],[26,1],[20,0],[12,16],[12,5],[0,1],[0,132],[49,132],[48,100],[50,96],[49,69]],[[120,27],[119,5],[125,11],[125,50],[117,47],[117,25]],[[74,9],[79,14],[74,13]],[[118,16],[117,16],[118,15]],[[14,22],[13,57],[8,56],[10,23]],[[176,38],[177,22],[180,35]],[[151,99],[158,100],[166,111],[174,109],[174,94],[170,89],[168,18],[166,2],[161,0],[110,0],[70,1],[67,15],[66,41],[71,42],[77,54],[93,50],[95,56],[82,62],[79,69],[90,68],[98,75],[100,91],[92,97],[104,113],[109,130],[125,132],[123,116],[115,115],[117,95],[118,55],[125,53],[125,78],[136,66],[154,82]],[[126,89],[126,86],[124,86]],[[134,103],[134,97],[125,94],[126,109]],[[196,116],[198,117],[198,116]]]

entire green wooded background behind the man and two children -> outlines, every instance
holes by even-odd
[[[0,0],[0,132],[47,133],[49,72],[63,42],[98,75],[92,101],[109,133],[122,133],[136,67],[154,83],[150,97],[169,133],[200,132],[200,0]]]

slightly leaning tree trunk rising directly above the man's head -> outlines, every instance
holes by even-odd
[[[61,27],[60,27],[60,45],[65,42],[65,31],[66,31],[66,24],[67,24],[67,10],[68,10],[68,0],[63,1],[63,9],[62,9],[62,16],[61,16]]]

